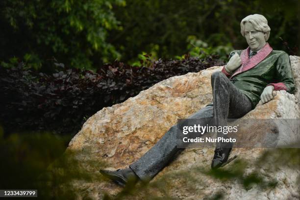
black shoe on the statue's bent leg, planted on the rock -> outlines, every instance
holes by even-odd
[[[226,144],[227,147],[216,147],[215,149],[215,155],[211,162],[211,169],[217,169],[221,167],[227,160],[230,154],[230,151],[232,150],[232,143]]]

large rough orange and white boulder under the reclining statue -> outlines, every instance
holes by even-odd
[[[291,64],[298,91],[300,88],[300,57],[291,56]],[[162,135],[175,125],[178,118],[186,118],[207,103],[212,101],[210,75],[220,71],[220,67],[212,67],[199,73],[174,76],[163,80],[139,95],[129,98],[123,103],[106,107],[97,112],[83,125],[69,144],[68,150],[77,150],[82,168],[90,173],[98,173],[97,168],[85,162],[87,159],[101,160],[110,169],[124,168],[149,150]],[[300,118],[298,100],[285,91],[277,92],[274,100],[257,106],[244,118],[274,119]],[[245,134],[253,134],[251,129]],[[291,140],[299,136],[291,136]],[[234,149],[231,156],[237,155],[249,163],[255,163],[265,149]],[[85,153],[86,152],[86,153]],[[155,196],[171,196],[180,200],[195,200],[212,197],[222,193],[225,199],[298,199],[299,188],[297,177],[300,170],[288,167],[278,167],[276,171],[262,167],[258,169],[266,180],[275,178],[274,188],[259,188],[256,186],[246,190],[237,179],[222,182],[197,170],[209,170],[214,149],[186,149],[160,172],[151,182],[166,179],[164,192],[159,187],[149,189],[149,194]],[[224,169],[231,169],[235,160]],[[247,168],[245,175],[253,168]],[[176,175],[189,172],[186,177]],[[189,177],[189,178],[187,178]],[[197,179],[198,182],[193,181]],[[150,182],[150,183],[151,183]],[[122,188],[112,181],[74,181],[79,199],[90,197],[101,199],[104,193],[112,196]],[[143,194],[134,198],[144,199]]]

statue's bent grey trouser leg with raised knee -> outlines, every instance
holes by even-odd
[[[227,119],[237,119],[251,109],[251,101],[221,72],[211,76],[213,90],[214,123],[217,126],[227,125]],[[223,136],[223,133],[218,135]]]

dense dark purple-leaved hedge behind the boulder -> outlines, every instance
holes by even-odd
[[[55,73],[26,70],[20,63],[0,68],[0,121],[5,132],[51,130],[75,134],[85,120],[102,109],[137,95],[175,75],[222,65],[215,57],[157,60],[132,67],[115,61],[94,73],[57,64]]]

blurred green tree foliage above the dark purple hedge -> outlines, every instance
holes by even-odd
[[[31,68],[45,68],[53,57],[86,69],[117,58],[139,66],[141,52],[165,59],[180,59],[189,51],[225,58],[231,46],[247,47],[240,22],[254,12],[268,19],[274,49],[299,54],[298,0],[2,0],[0,7],[0,62],[5,67],[11,66],[10,58],[18,58]],[[209,46],[187,49],[189,36]]]

